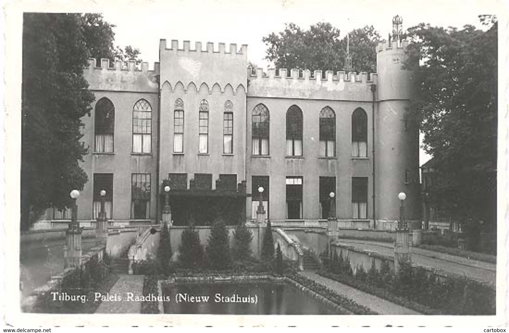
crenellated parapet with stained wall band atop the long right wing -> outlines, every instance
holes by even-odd
[[[258,68],[253,74],[248,68],[248,96],[310,98],[371,101],[371,85],[377,84],[377,74],[365,72],[314,71],[269,68],[264,73]]]

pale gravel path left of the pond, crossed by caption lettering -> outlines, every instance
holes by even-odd
[[[103,300],[96,313],[141,313],[142,303],[134,301],[134,298],[143,295],[144,278],[145,275],[120,275],[119,280],[111,287],[108,295],[104,295],[114,300]],[[130,295],[128,293],[132,293],[131,299],[128,298]]]

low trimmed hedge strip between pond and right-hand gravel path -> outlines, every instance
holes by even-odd
[[[361,306],[360,304],[351,300],[350,298],[346,298],[345,296],[340,295],[335,291],[313,280],[310,280],[307,277],[302,276],[298,273],[289,273],[286,274],[286,276],[289,277],[289,279],[297,282],[298,284],[306,288],[309,288],[310,290],[327,298],[328,300],[332,301],[333,303],[337,304],[340,307],[343,307],[344,309],[352,312],[355,315],[378,315],[377,312],[374,312],[369,308]]]

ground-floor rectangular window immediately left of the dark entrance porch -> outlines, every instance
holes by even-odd
[[[131,218],[150,218],[150,174],[131,176]]]

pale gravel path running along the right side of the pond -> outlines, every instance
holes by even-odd
[[[420,315],[420,313],[391,303],[385,299],[365,293],[342,283],[327,279],[312,271],[302,271],[299,274],[311,279],[327,288],[330,288],[347,298],[350,298],[364,307],[370,308],[381,315]]]

